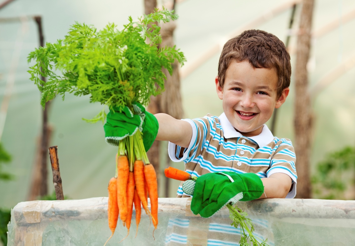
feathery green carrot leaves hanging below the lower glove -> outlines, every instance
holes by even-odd
[[[254,225],[251,222],[251,219],[247,218],[248,214],[246,212],[243,212],[237,206],[233,207],[231,204],[227,204],[227,207],[229,209],[229,218],[232,220],[231,225],[235,228],[238,228],[238,225],[240,225],[240,235],[241,235],[241,239],[239,241],[240,246],[247,246],[247,245],[267,246],[268,245],[266,243],[267,239],[262,241],[258,237],[255,237],[253,235],[253,232],[255,230]]]

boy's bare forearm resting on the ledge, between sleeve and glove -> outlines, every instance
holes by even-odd
[[[289,175],[284,173],[274,173],[269,178],[262,178],[261,181],[265,194],[260,198],[285,198],[292,184]]]

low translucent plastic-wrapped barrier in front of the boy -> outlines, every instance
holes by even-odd
[[[107,197],[83,200],[20,202],[11,211],[8,246],[104,245],[111,234],[107,221]],[[355,201],[316,199],[263,199],[238,202],[237,206],[264,229],[255,234],[268,237],[270,245],[353,245],[355,242]],[[129,236],[120,245],[212,245],[208,223],[228,218],[224,208],[204,219],[190,210],[190,199],[159,198],[159,224],[154,231],[142,213],[137,237],[135,212]],[[171,240],[171,221],[186,224],[186,242]],[[120,221],[119,221],[120,222]],[[221,234],[225,231],[221,231]],[[127,234],[118,223],[108,245],[117,245]],[[173,234],[175,235],[175,234]],[[239,238],[228,237],[229,245]],[[224,244],[220,244],[224,245]]]

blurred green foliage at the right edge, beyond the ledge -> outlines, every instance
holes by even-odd
[[[355,147],[329,153],[317,164],[312,177],[315,198],[346,199],[345,192],[355,181]]]

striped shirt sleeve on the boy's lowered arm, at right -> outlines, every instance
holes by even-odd
[[[280,139],[281,143],[276,149],[273,157],[271,158],[270,168],[268,169],[266,175],[274,173],[284,173],[290,176],[292,179],[292,189],[287,194],[286,198],[294,198],[296,196],[296,184],[297,184],[297,173],[296,173],[296,155],[292,143],[289,139]]]

